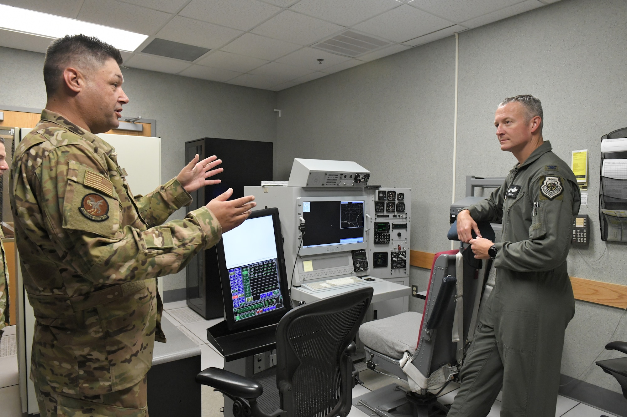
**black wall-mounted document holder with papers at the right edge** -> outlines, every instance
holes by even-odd
[[[601,239],[627,242],[627,128],[601,138]]]

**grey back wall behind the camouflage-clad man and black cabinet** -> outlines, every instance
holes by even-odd
[[[0,105],[43,108],[44,55],[0,47]],[[276,95],[213,81],[122,68],[130,103],[122,115],[157,120],[161,136],[161,175],[166,182],[184,166],[185,142],[206,136],[261,140],[276,138]],[[137,155],[141,158],[141,155]],[[132,187],[132,183],[130,183]],[[182,219],[178,210],[172,219]],[[186,286],[185,271],[164,278],[164,290]]]

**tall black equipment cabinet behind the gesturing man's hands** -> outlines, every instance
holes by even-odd
[[[272,180],[272,143],[254,140],[202,138],[185,143],[185,160],[198,153],[201,160],[217,155],[224,172],[211,179],[222,180],[192,193],[194,201],[186,212],[203,207],[221,193],[233,188],[229,200],[244,196],[245,185],[261,185]],[[200,252],[187,265],[187,306],[205,319],[223,317],[224,302],[218,275],[218,258],[213,247]]]

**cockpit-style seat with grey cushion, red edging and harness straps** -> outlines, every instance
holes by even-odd
[[[449,239],[456,239],[456,224]],[[482,236],[494,239],[489,223],[480,225]],[[454,233],[453,233],[454,232]],[[367,366],[408,381],[391,384],[357,399],[356,406],[382,417],[446,415],[431,391],[457,381],[466,349],[473,339],[482,300],[492,287],[492,261],[474,259],[470,247],[440,252],[433,259],[423,313],[404,312],[366,322],[359,339]]]

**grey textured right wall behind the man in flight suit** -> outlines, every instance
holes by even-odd
[[[498,103],[538,96],[544,136],[557,155],[567,162],[571,150],[587,148],[591,155],[590,202],[581,213],[591,215],[592,244],[571,250],[569,273],[618,284],[627,284],[627,245],[606,249],[596,213],[601,135],[627,126],[626,18],[623,0],[563,0],[463,32],[459,47],[456,197],[465,195],[466,175],[505,177],[515,163],[495,140]],[[413,188],[412,249],[450,249],[454,71],[451,37],[280,91],[275,179],[287,179],[294,157],[355,160],[372,171],[372,183]],[[412,284],[424,288],[427,276],[411,269]],[[620,391],[589,365],[604,352],[621,313],[577,301],[562,373]],[[627,321],[614,339],[627,339]]]

